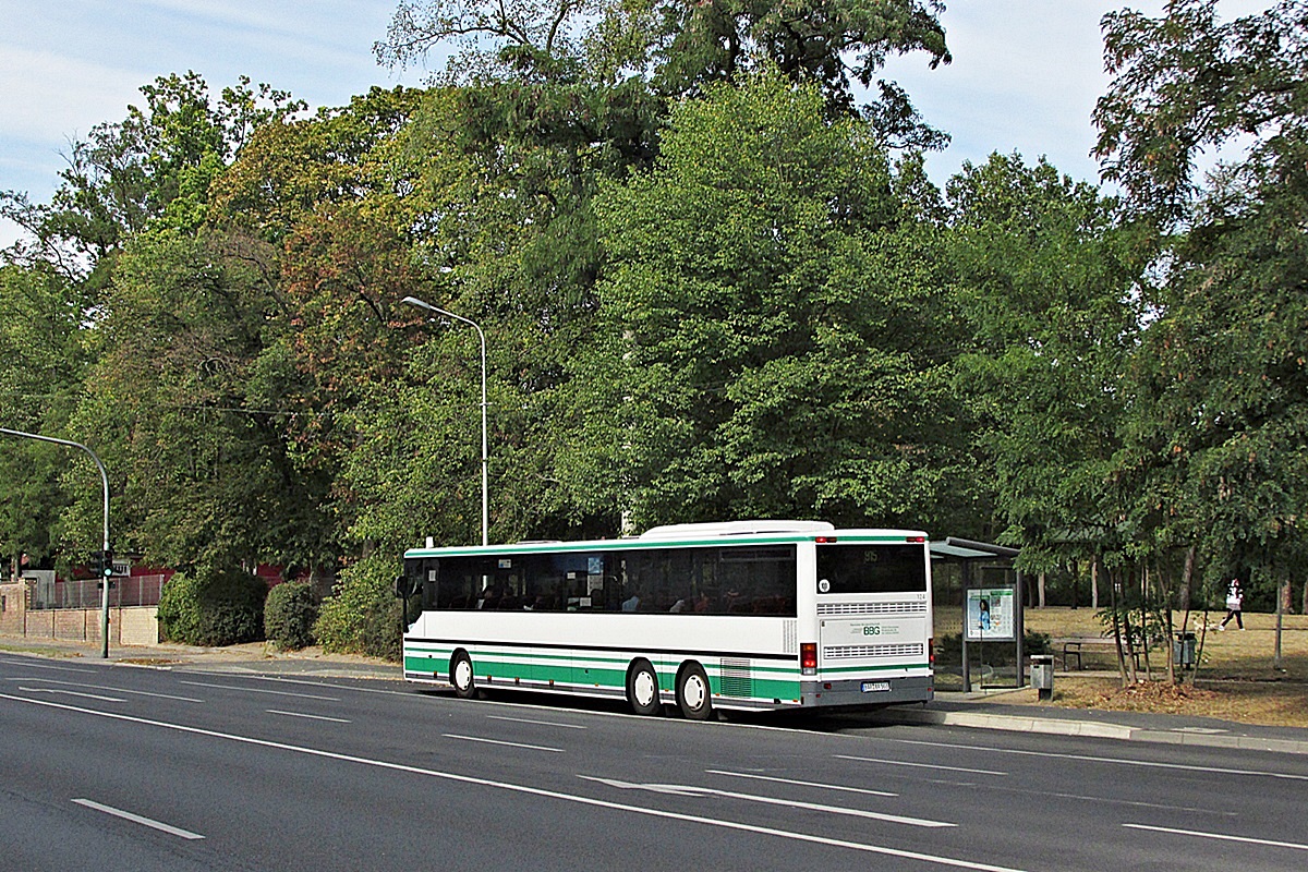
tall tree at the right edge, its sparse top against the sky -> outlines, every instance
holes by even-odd
[[[1124,475],[1147,482],[1152,535],[1205,577],[1282,582],[1304,549],[1304,217],[1308,3],[1218,24],[1179,0],[1105,18],[1116,78],[1099,152],[1129,203],[1175,231],[1131,370]],[[1235,140],[1202,184],[1196,156]]]

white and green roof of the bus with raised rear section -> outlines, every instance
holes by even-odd
[[[633,548],[709,546],[731,544],[785,544],[816,539],[862,543],[925,543],[920,529],[849,528],[837,529],[823,520],[732,520],[706,524],[666,524],[651,527],[641,536],[585,541],[521,541],[505,545],[446,545],[411,548],[404,557],[456,557],[473,554],[540,554]]]

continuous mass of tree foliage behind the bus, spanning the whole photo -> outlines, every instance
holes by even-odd
[[[476,333],[415,295],[485,331],[494,540],[825,518],[1267,601],[1308,557],[1304,4],[1215,10],[1107,18],[1126,210],[889,150],[942,141],[876,81],[948,61],[934,0],[403,3],[379,56],[456,67],[311,118],[160,77],[52,203],[0,192],[0,424],[105,459],[122,553],[344,561],[323,642],[394,656],[399,553],[480,539]],[[95,546],[85,459],[0,446],[0,550]]]

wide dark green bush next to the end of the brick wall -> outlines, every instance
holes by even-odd
[[[267,583],[241,569],[178,573],[160,596],[160,633],[198,646],[256,642],[267,595]]]

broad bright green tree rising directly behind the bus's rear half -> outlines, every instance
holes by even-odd
[[[606,190],[590,444],[634,522],[938,516],[943,282],[891,183],[865,124],[761,75],[679,106]]]

